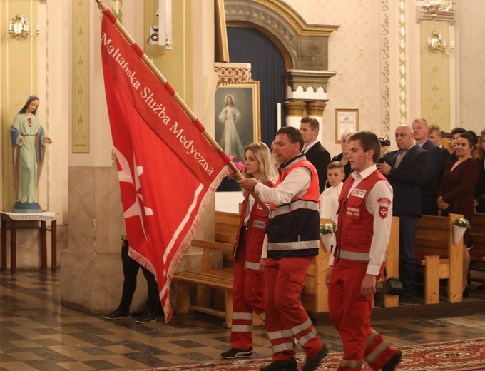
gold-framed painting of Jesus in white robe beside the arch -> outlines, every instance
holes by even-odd
[[[260,82],[219,86],[214,117],[215,141],[233,161],[244,161],[244,148],[261,141]]]

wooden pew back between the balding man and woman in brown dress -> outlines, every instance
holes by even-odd
[[[414,240],[414,254],[417,259],[422,260],[429,255],[439,255],[441,259],[449,258],[454,246],[452,223],[456,218],[463,218],[463,215],[422,216]]]

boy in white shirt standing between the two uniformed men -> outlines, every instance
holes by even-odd
[[[327,179],[330,188],[320,194],[320,218],[337,222],[337,209],[342,182],[345,178],[344,166],[339,161],[333,161],[327,166]]]

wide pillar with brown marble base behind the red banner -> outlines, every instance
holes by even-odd
[[[143,44],[143,7],[123,1],[123,26]],[[121,299],[123,207],[101,64],[101,15],[95,1],[72,3],[72,141],[68,156],[68,249],[61,253],[61,300],[89,312],[114,310]],[[93,21],[94,20],[94,21]],[[141,20],[141,21],[140,21]],[[143,309],[140,271],[131,310]]]

